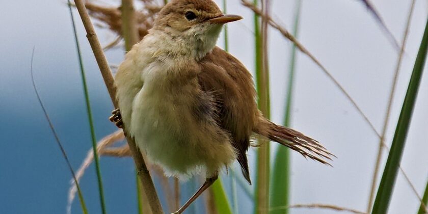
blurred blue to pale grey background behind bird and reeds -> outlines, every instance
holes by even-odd
[[[111,7],[120,5],[120,1],[114,0],[93,2]],[[219,6],[223,4],[221,0],[216,2]],[[401,43],[411,0],[372,0],[372,3],[392,35]],[[272,17],[292,31],[297,1],[277,0],[271,4]],[[244,17],[239,22],[228,24],[229,52],[254,72],[253,12],[237,0],[227,1],[227,7],[228,13]],[[386,132],[387,145],[391,144],[394,135],[422,38],[427,9],[426,1],[416,1]],[[117,130],[108,120],[113,105],[82,22],[75,9],[73,12],[87,74],[95,133],[99,140]],[[299,41],[331,72],[381,132],[399,50],[362,1],[305,0],[302,1],[300,18]],[[37,101],[31,84],[30,64],[35,47],[35,82],[71,165],[77,170],[91,149],[91,137],[67,2],[2,1],[0,20],[3,32],[0,34],[0,108],[3,112],[0,123],[0,212],[65,213],[71,174]],[[102,45],[117,36],[103,27],[96,30]],[[125,50],[120,44],[105,52],[112,65],[123,60]],[[218,45],[224,47],[223,34]],[[291,48],[291,42],[270,28],[271,118],[280,124],[284,118]],[[419,195],[423,194],[428,178],[426,77],[425,73],[401,162]],[[321,142],[337,159],[333,160],[333,167],[327,167],[292,152],[290,204],[334,204],[365,212],[378,152],[378,136],[331,79],[299,51],[294,83],[290,126]],[[276,148],[272,144],[272,156]],[[251,148],[248,153],[253,179],[256,175],[255,151]],[[387,154],[384,151],[379,179]],[[132,159],[101,157],[100,168],[108,212],[137,213]],[[242,178],[237,165],[233,169],[236,176]],[[230,177],[225,172],[222,174],[229,199],[232,198]],[[165,207],[166,196],[159,182],[155,178]],[[80,183],[89,212],[100,213],[93,165]],[[181,204],[200,183],[201,178],[181,182]],[[246,187],[251,191],[254,188]],[[238,212],[251,213],[254,203],[239,184],[237,196]],[[199,199],[186,213],[204,213],[203,202],[202,198]],[[399,173],[388,213],[415,213],[419,203]],[[332,212],[335,211],[289,209],[289,213]],[[72,205],[72,213],[82,213],[78,199]]]

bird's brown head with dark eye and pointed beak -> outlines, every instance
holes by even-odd
[[[186,45],[200,58],[214,48],[225,23],[240,19],[223,14],[212,0],[172,0],[158,13],[153,29]]]

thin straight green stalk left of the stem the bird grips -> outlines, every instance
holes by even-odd
[[[101,204],[101,211],[103,214],[105,214],[106,210],[105,210],[105,202],[104,202],[104,191],[102,188],[101,170],[99,167],[99,160],[98,160],[97,140],[95,138],[94,123],[92,120],[91,104],[90,104],[90,100],[89,100],[88,86],[86,85],[86,77],[85,77],[85,69],[83,67],[82,53],[81,53],[81,49],[79,46],[79,40],[77,37],[76,25],[74,23],[74,17],[73,17],[73,12],[71,10],[70,0],[68,0],[68,7],[70,9],[71,22],[73,25],[74,40],[76,43],[77,56],[78,56],[78,60],[79,60],[79,67],[80,67],[81,76],[82,76],[82,85],[83,85],[83,90],[84,90],[84,94],[85,94],[86,111],[88,113],[89,127],[91,130],[91,141],[92,141],[92,149],[94,152],[95,170],[97,173],[99,200],[100,200],[100,204]]]

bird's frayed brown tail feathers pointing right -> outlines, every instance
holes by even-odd
[[[305,136],[299,131],[277,125],[263,117],[260,117],[259,123],[253,131],[264,138],[301,153],[304,157],[309,157],[323,164],[330,165],[328,161],[332,157],[336,157],[327,151],[323,145],[319,144],[318,141]]]

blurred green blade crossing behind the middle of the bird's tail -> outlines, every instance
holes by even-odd
[[[295,22],[293,29],[293,36],[297,38],[298,27],[299,27],[299,17],[300,17],[300,8],[302,5],[301,0],[296,1],[296,10],[295,10]],[[291,102],[292,102],[292,92],[293,92],[293,83],[294,83],[294,74],[295,74],[295,64],[296,64],[296,45],[293,45],[291,48],[291,57],[290,57],[290,67],[289,67],[289,76],[288,76],[288,91],[285,104],[285,118],[284,125],[290,125],[291,118]],[[290,151],[285,146],[280,146],[275,154],[274,167],[272,173],[272,185],[271,185],[271,207],[280,207],[287,206],[289,203],[289,193],[290,193]],[[288,209],[283,210],[272,210],[269,213],[279,214],[288,213]]]

